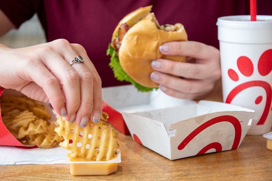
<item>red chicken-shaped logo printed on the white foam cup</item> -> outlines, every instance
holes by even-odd
[[[272,71],[272,49],[268,49],[262,53],[258,60],[257,70],[261,76],[267,76]],[[250,77],[254,72],[254,65],[247,56],[240,56],[237,59],[237,67],[242,75],[246,77]],[[239,76],[236,73],[235,70],[229,69],[228,70],[228,76],[233,81],[238,81]],[[266,92],[266,103],[264,106],[264,111],[257,122],[257,125],[264,124],[269,112],[270,112],[270,106],[272,101],[272,89],[271,85],[265,81],[255,80],[255,81],[248,81],[245,83],[242,83],[232,89],[232,91],[228,94],[228,97],[226,98],[226,103],[231,103],[232,100],[236,97],[238,93],[240,93],[242,90],[248,89],[249,87],[262,87]],[[260,104],[263,100],[262,96],[258,96],[255,100],[255,104]],[[271,109],[272,110],[272,109]]]

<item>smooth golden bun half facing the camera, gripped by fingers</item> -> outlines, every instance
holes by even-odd
[[[154,71],[151,67],[153,60],[163,58],[179,62],[186,61],[184,56],[163,55],[159,46],[170,41],[187,41],[187,33],[180,23],[169,25],[174,26],[176,31],[159,29],[154,23],[154,14],[149,13],[149,10],[147,12],[148,16],[143,19],[133,17],[134,26],[125,34],[118,57],[122,68],[134,81],[146,87],[158,87],[158,84],[150,79],[150,74]],[[126,18],[127,22],[132,22],[128,21],[128,17]],[[142,20],[135,24],[138,19]]]

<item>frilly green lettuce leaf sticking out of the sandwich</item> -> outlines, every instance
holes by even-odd
[[[111,56],[111,58],[110,58],[111,62],[109,63],[109,66],[110,66],[110,68],[112,68],[112,71],[114,73],[114,77],[118,81],[130,82],[131,84],[133,84],[138,89],[138,91],[141,91],[141,92],[149,92],[149,91],[154,89],[154,88],[151,88],[151,87],[145,87],[145,86],[142,86],[141,84],[138,84],[137,82],[135,82],[132,78],[130,78],[127,75],[127,73],[121,67],[121,64],[119,62],[119,58],[116,56],[115,50],[112,48],[111,43],[109,43],[109,45],[108,45],[107,56],[108,55]]]

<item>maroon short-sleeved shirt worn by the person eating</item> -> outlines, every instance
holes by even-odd
[[[128,13],[153,5],[160,24],[181,23],[189,40],[219,48],[218,17],[250,14],[250,0],[8,0],[0,8],[19,27],[34,13],[44,27],[47,41],[64,38],[84,46],[95,65],[102,87],[128,84],[117,81],[106,56],[118,22]],[[257,14],[272,15],[272,1],[258,0]],[[73,57],[71,57],[72,59]],[[84,57],[83,57],[84,58]]]

